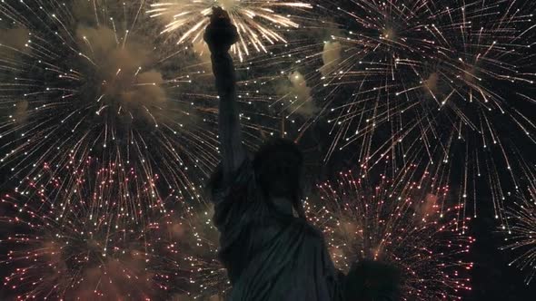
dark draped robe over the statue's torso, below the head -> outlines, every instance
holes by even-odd
[[[341,300],[341,275],[322,232],[267,205],[251,160],[228,179],[214,177],[213,222],[233,286],[229,300]]]

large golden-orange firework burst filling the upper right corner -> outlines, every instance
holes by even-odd
[[[325,3],[330,38],[298,41],[276,59],[292,56],[286,72],[306,70],[323,91],[322,109],[300,131],[328,118],[325,160],[359,145],[356,160],[368,169],[390,158],[396,168],[419,160],[432,173],[452,170],[462,179],[460,203],[474,204],[463,214],[476,217],[485,195],[503,218],[504,189],[518,189],[533,169],[535,8],[513,0]]]

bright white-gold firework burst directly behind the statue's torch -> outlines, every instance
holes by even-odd
[[[152,17],[164,19],[167,23],[162,34],[178,31],[177,44],[195,43],[203,39],[204,27],[208,24],[214,5],[222,6],[236,25],[240,41],[233,46],[241,60],[250,54],[253,47],[256,52],[267,52],[265,43],[286,43],[281,32],[283,29],[298,28],[293,17],[280,13],[281,9],[308,10],[313,6],[303,2],[286,0],[174,0],[152,4],[148,13]]]

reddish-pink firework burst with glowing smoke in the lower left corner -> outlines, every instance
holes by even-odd
[[[27,179],[2,196],[0,260],[17,299],[146,299],[180,288],[187,274],[164,235],[173,211],[159,200],[143,218],[131,215],[125,206],[155,198],[154,181],[140,185],[135,172],[124,180],[119,170],[87,163],[57,176],[45,167],[45,185]]]

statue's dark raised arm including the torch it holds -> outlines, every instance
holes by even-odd
[[[213,73],[220,97],[218,123],[223,157],[223,181],[228,180],[246,158],[242,144],[240,115],[236,103],[236,74],[233,58],[229,54],[231,46],[237,40],[236,27],[231,23],[227,12],[220,7],[214,7],[211,23],[204,34],[204,41],[212,53]]]

